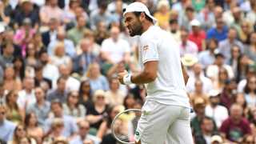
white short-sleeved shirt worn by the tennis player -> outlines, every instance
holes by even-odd
[[[190,107],[178,42],[158,26],[150,26],[140,37],[139,62],[158,61],[158,76],[146,84],[147,99],[166,105]]]

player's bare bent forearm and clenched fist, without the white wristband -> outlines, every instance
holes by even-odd
[[[130,81],[135,84],[150,83],[157,78],[158,61],[150,61],[144,63],[144,70],[141,73],[131,76]],[[128,72],[124,71],[118,74],[119,81],[124,84],[123,78],[128,76]]]

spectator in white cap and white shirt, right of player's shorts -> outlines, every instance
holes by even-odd
[[[216,125],[218,127],[220,127],[222,125],[222,122],[229,116],[226,107],[220,105],[220,95],[220,91],[210,90],[210,103],[206,106],[206,115],[214,118],[214,121],[216,122]]]

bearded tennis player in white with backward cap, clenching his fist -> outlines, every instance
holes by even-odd
[[[157,20],[141,2],[123,13],[130,36],[140,36],[139,74],[118,73],[122,84],[146,85],[146,102],[135,132],[136,144],[191,144],[190,103],[177,43],[170,33],[154,26]],[[184,73],[185,74],[185,73]]]

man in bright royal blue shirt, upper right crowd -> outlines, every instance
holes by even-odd
[[[222,18],[216,19],[216,27],[211,28],[207,31],[206,39],[216,38],[218,42],[226,39],[228,28],[225,25]]]

